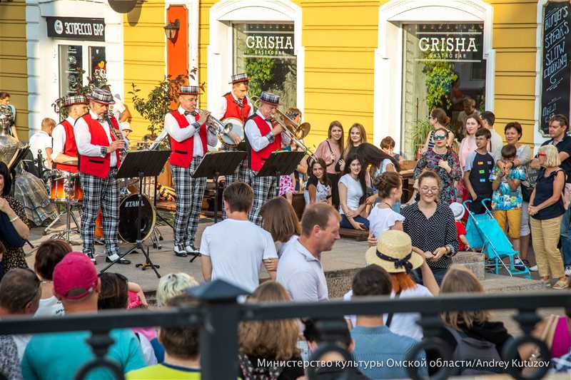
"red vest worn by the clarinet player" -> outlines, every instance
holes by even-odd
[[[91,113],[81,116],[87,123],[89,133],[91,133],[91,144],[100,146],[109,146],[109,140],[101,125],[96,119],[91,118]],[[119,133],[119,123],[113,116],[109,116],[111,120],[111,128],[115,128]],[[111,141],[115,141],[115,136],[111,133]],[[117,168],[121,165],[119,161],[119,151],[107,153],[105,157],[92,157],[89,155],[79,155],[79,171],[81,173],[91,174],[98,178],[107,178],[109,169],[111,168],[111,154],[115,154],[117,158]]]

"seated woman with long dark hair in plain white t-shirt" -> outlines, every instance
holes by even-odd
[[[366,218],[366,194],[365,164],[357,154],[353,153],[347,158],[345,175],[339,180],[339,213],[342,228],[369,229],[369,221]]]

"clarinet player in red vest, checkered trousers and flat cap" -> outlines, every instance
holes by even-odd
[[[113,95],[107,90],[94,88],[87,98],[89,113],[77,119],[74,126],[79,179],[84,191],[84,212],[81,215],[84,253],[95,262],[95,220],[101,205],[105,261],[131,264],[118,256],[119,189],[115,175],[121,165],[119,150],[125,148],[125,141],[121,138],[117,119],[108,115],[109,105],[114,103]]]

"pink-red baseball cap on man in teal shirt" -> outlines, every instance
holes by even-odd
[[[69,252],[54,268],[54,291],[66,299],[81,299],[97,286],[98,276],[91,259],[82,252]]]

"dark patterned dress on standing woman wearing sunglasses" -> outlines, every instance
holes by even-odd
[[[448,165],[452,168],[450,173],[438,166],[438,162],[440,160],[448,162]],[[446,202],[448,205],[452,202],[456,202],[456,190],[454,183],[462,178],[462,170],[460,169],[458,155],[456,155],[453,150],[448,150],[443,155],[440,155],[435,153],[434,150],[429,149],[426,153],[420,156],[420,159],[416,163],[414,178],[417,179],[425,169],[434,170],[440,176],[440,180],[442,180],[442,188],[440,188],[438,202]]]

